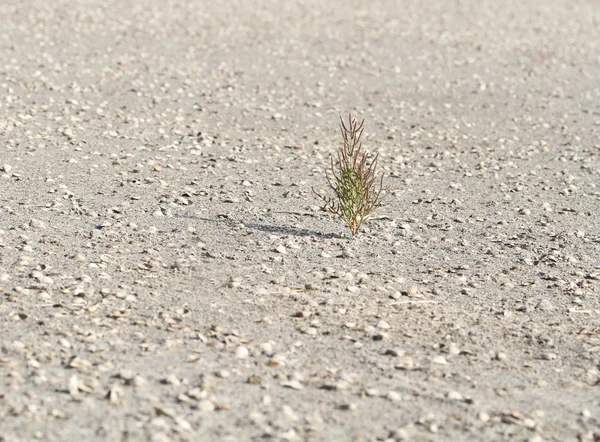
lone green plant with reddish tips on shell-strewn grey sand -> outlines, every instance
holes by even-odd
[[[376,177],[377,158],[367,165],[368,152],[362,152],[361,137],[363,125],[348,115],[348,127],[340,117],[340,130],[344,146],[337,153],[337,164],[331,157],[331,170],[325,172],[325,177],[334,197],[327,197],[313,188],[313,192],[324,203],[324,209],[338,215],[350,228],[355,236],[373,210],[381,205],[383,191],[383,174]]]

